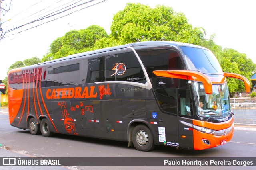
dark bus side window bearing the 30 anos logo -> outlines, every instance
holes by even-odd
[[[142,67],[133,51],[106,56],[106,81],[145,83]]]

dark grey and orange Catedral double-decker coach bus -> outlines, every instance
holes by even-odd
[[[213,53],[168,41],[131,43],[10,70],[10,125],[53,133],[202,150],[227,143],[234,114]],[[200,106],[200,102],[204,106]]]

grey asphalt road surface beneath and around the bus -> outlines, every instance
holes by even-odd
[[[151,152],[140,152],[134,147],[127,147],[127,142],[110,141],[103,139],[92,139],[88,137],[77,137],[71,135],[56,134],[53,137],[43,137],[42,135],[31,135],[28,130],[18,129],[10,126],[8,114],[0,113],[0,144],[8,148],[13,153],[28,157],[255,157],[256,153],[256,130],[254,128],[236,127],[234,137],[229,143],[207,150],[185,150],[172,147],[157,146]],[[0,150],[1,152],[1,150]],[[99,162],[100,164],[100,162]],[[132,164],[132,162],[131,162]],[[36,168],[36,167],[34,167]],[[69,169],[166,169],[166,167],[154,166],[75,166]],[[182,166],[168,167],[170,169],[184,169]],[[189,169],[200,169],[203,167],[190,166]],[[187,169],[186,168],[186,169]],[[206,168],[206,167],[204,167]],[[216,169],[211,166],[207,169]],[[232,169],[249,168],[236,166]],[[1,167],[0,167],[1,169]],[[15,167],[15,169],[23,169]],[[47,169],[47,168],[46,168]],[[223,166],[221,169],[231,169]]]

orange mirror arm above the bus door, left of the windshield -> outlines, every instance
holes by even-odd
[[[203,82],[206,94],[212,94],[212,81],[201,72],[190,70],[153,71],[156,76],[181,78],[187,80],[199,80]],[[187,77],[190,76],[190,77]],[[196,77],[196,78],[193,78]]]

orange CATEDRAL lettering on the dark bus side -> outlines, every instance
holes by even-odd
[[[48,89],[46,91],[47,99],[71,99],[71,98],[96,98],[97,93],[94,93],[95,86],[90,87],[90,92],[88,87],[82,89],[82,87],[76,88],[57,88]]]

